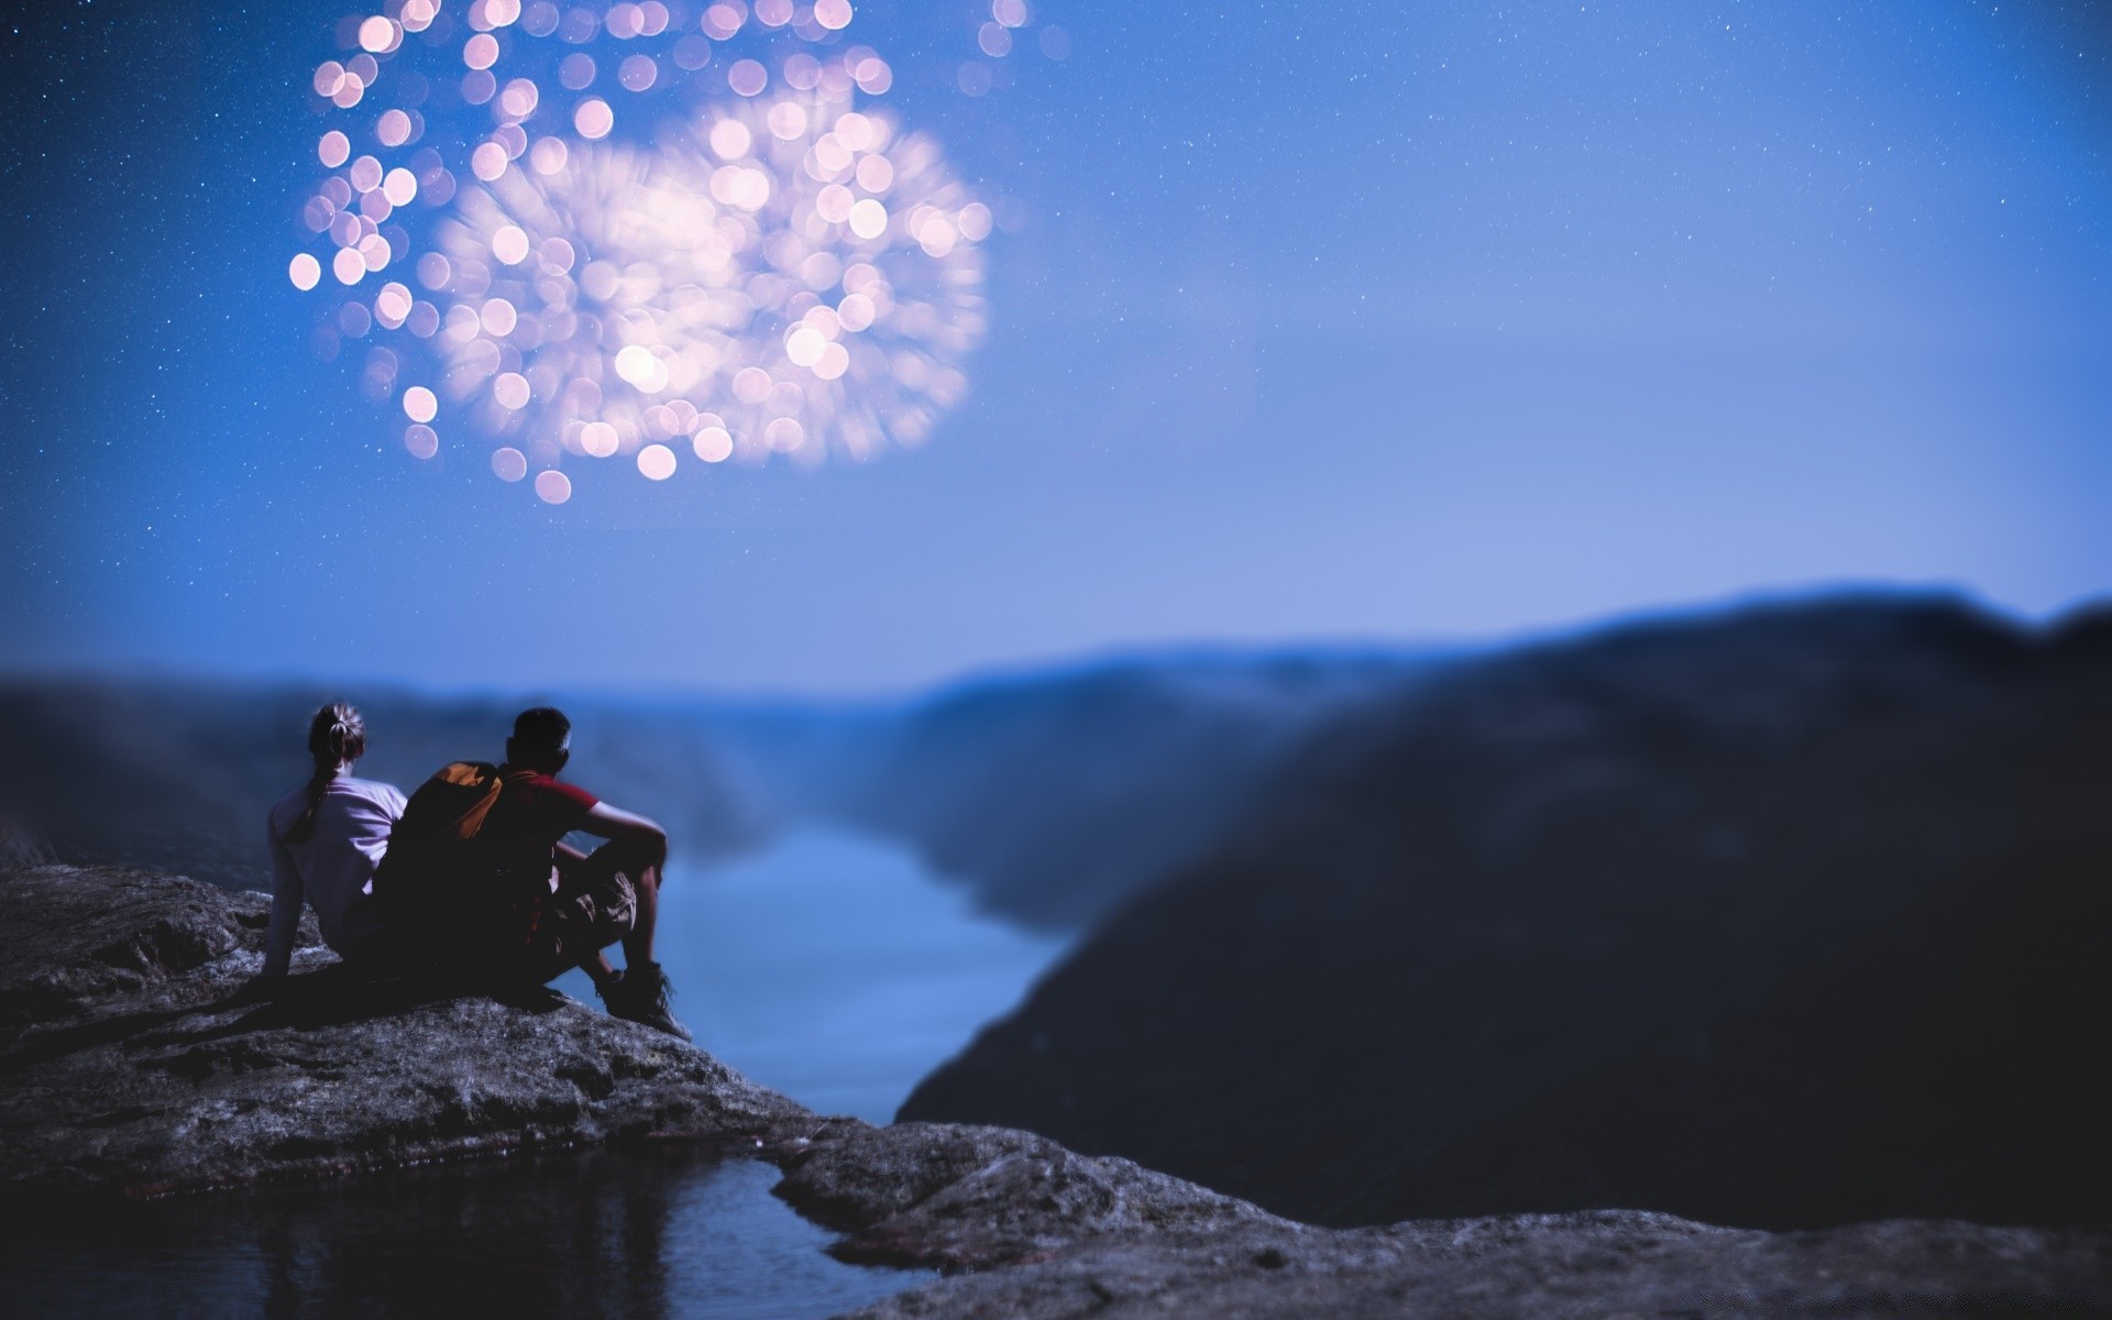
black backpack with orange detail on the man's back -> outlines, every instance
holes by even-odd
[[[503,788],[496,765],[456,760],[410,794],[374,868],[382,921],[410,944],[439,950],[475,923],[496,864],[484,822]]]

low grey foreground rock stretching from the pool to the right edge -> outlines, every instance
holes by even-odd
[[[779,1195],[857,1261],[967,1269],[860,1312],[953,1316],[2104,1314],[2112,1233],[1808,1233],[1641,1210],[1320,1229],[1026,1132],[898,1124],[794,1149]]]

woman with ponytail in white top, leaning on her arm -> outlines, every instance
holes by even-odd
[[[353,777],[353,762],[365,750],[367,727],[357,710],[342,701],[317,710],[308,720],[315,773],[270,809],[270,936],[260,978],[266,984],[287,972],[302,902],[315,908],[323,944],[338,957],[380,955],[382,919],[372,881],[389,849],[389,830],[403,815],[403,794],[391,784]]]

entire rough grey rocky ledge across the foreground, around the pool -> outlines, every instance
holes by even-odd
[[[262,895],[131,868],[0,872],[0,1187],[167,1195],[625,1138],[775,1159],[851,1261],[948,1278],[906,1316],[2112,1312],[2112,1229],[1810,1233],[1601,1210],[1320,1229],[1001,1128],[824,1119],[568,999],[357,986],[304,931],[237,995]],[[19,1195],[13,1200],[21,1200]]]

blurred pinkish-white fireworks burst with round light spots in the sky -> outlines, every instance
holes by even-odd
[[[475,433],[551,503],[619,456],[665,479],[919,444],[967,391],[991,211],[857,106],[893,72],[838,44],[849,21],[847,0],[348,19],[359,53],[315,74],[342,122],[302,211],[323,256],[289,266],[338,300],[321,346],[374,340],[363,384],[414,456]]]

